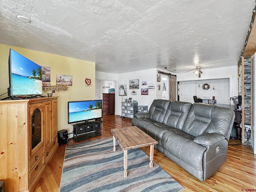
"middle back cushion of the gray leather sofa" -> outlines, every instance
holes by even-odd
[[[170,102],[163,123],[170,127],[182,130],[191,105],[192,104],[188,102]]]

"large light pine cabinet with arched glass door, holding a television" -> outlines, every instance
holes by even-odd
[[[0,101],[0,180],[33,191],[58,148],[57,97]]]

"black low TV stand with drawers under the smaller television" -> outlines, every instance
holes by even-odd
[[[94,121],[74,124],[73,134],[75,142],[101,136],[101,122]]]

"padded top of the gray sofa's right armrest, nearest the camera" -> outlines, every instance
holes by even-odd
[[[208,133],[197,136],[196,138],[194,138],[194,142],[200,145],[213,145],[224,139],[225,137],[221,134]]]

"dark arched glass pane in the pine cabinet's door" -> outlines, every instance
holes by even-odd
[[[31,149],[34,149],[42,140],[41,111],[36,108],[31,117]]]

